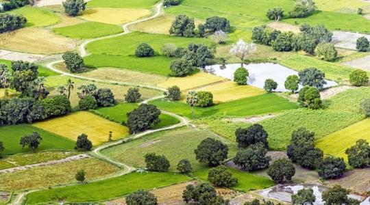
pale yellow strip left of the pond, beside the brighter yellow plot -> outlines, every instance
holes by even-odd
[[[214,74],[198,72],[187,77],[171,77],[167,81],[159,83],[158,86],[167,88],[177,85],[180,87],[180,90],[192,90],[210,85],[212,83],[221,83],[222,81],[227,81],[227,79],[218,77]]]

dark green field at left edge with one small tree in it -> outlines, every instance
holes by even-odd
[[[35,126],[28,124],[18,124],[12,126],[1,126],[0,127],[0,141],[4,143],[5,150],[4,155],[17,154],[23,152],[29,152],[29,148],[23,148],[19,144],[21,137],[24,135],[30,135],[33,132],[40,133],[42,141],[38,150],[73,150],[75,142],[60,137],[59,135],[49,133]]]

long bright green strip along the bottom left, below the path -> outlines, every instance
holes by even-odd
[[[88,184],[29,193],[27,195],[27,204],[57,202],[57,198],[63,198],[65,202],[102,202],[127,195],[138,189],[154,189],[186,180],[189,180],[187,176],[169,172],[136,172]]]

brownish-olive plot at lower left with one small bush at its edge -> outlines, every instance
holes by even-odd
[[[75,182],[75,174],[84,169],[86,179],[99,178],[118,172],[119,168],[99,159],[81,159],[57,165],[34,167],[19,172],[0,174],[0,189],[19,191],[52,187],[67,182]]]

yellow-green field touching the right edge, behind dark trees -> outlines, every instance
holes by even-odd
[[[331,135],[323,137],[317,141],[316,146],[323,150],[325,154],[343,157],[347,160],[345,150],[354,146],[358,139],[366,139],[370,142],[370,119],[362,120],[352,124],[347,128],[336,131]]]

